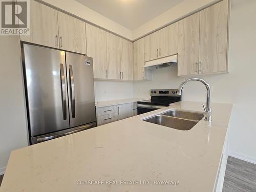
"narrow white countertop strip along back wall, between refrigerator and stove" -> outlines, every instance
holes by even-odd
[[[109,100],[109,101],[96,101],[95,106],[96,108],[103,108],[104,106],[112,106],[118,104],[126,104],[126,103],[134,103],[137,101],[147,100],[148,98],[129,98],[129,99],[116,99],[116,100]]]

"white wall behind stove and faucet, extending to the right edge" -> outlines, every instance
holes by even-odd
[[[233,103],[230,153],[256,162],[256,1],[232,0],[229,36],[229,73],[198,76],[213,86],[212,102]],[[177,67],[153,71],[153,80],[134,83],[134,96],[147,97],[150,89],[178,88]],[[183,100],[205,101],[205,87],[190,82]]]

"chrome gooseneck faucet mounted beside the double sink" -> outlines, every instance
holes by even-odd
[[[210,106],[210,96],[211,96],[211,92],[210,92],[210,86],[209,84],[203,80],[203,79],[199,79],[199,78],[190,78],[190,79],[187,79],[187,80],[184,80],[181,84],[180,84],[180,87],[179,87],[179,90],[178,90],[178,95],[181,95],[181,92],[182,92],[182,89],[184,87],[184,85],[189,82],[189,81],[200,81],[202,82],[205,87],[206,87],[206,90],[207,90],[207,98],[206,98],[206,107],[204,106],[203,104],[203,108],[204,108],[204,120],[206,121],[211,121],[211,106]]]

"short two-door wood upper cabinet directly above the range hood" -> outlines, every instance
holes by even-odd
[[[178,23],[144,37],[144,61],[178,53]]]

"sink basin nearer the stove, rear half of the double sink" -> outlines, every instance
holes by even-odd
[[[181,111],[181,110],[170,110],[165,112],[161,115],[171,116],[171,117],[179,117],[183,119],[190,119],[190,120],[201,120],[204,115],[200,112],[188,112],[188,111]]]

